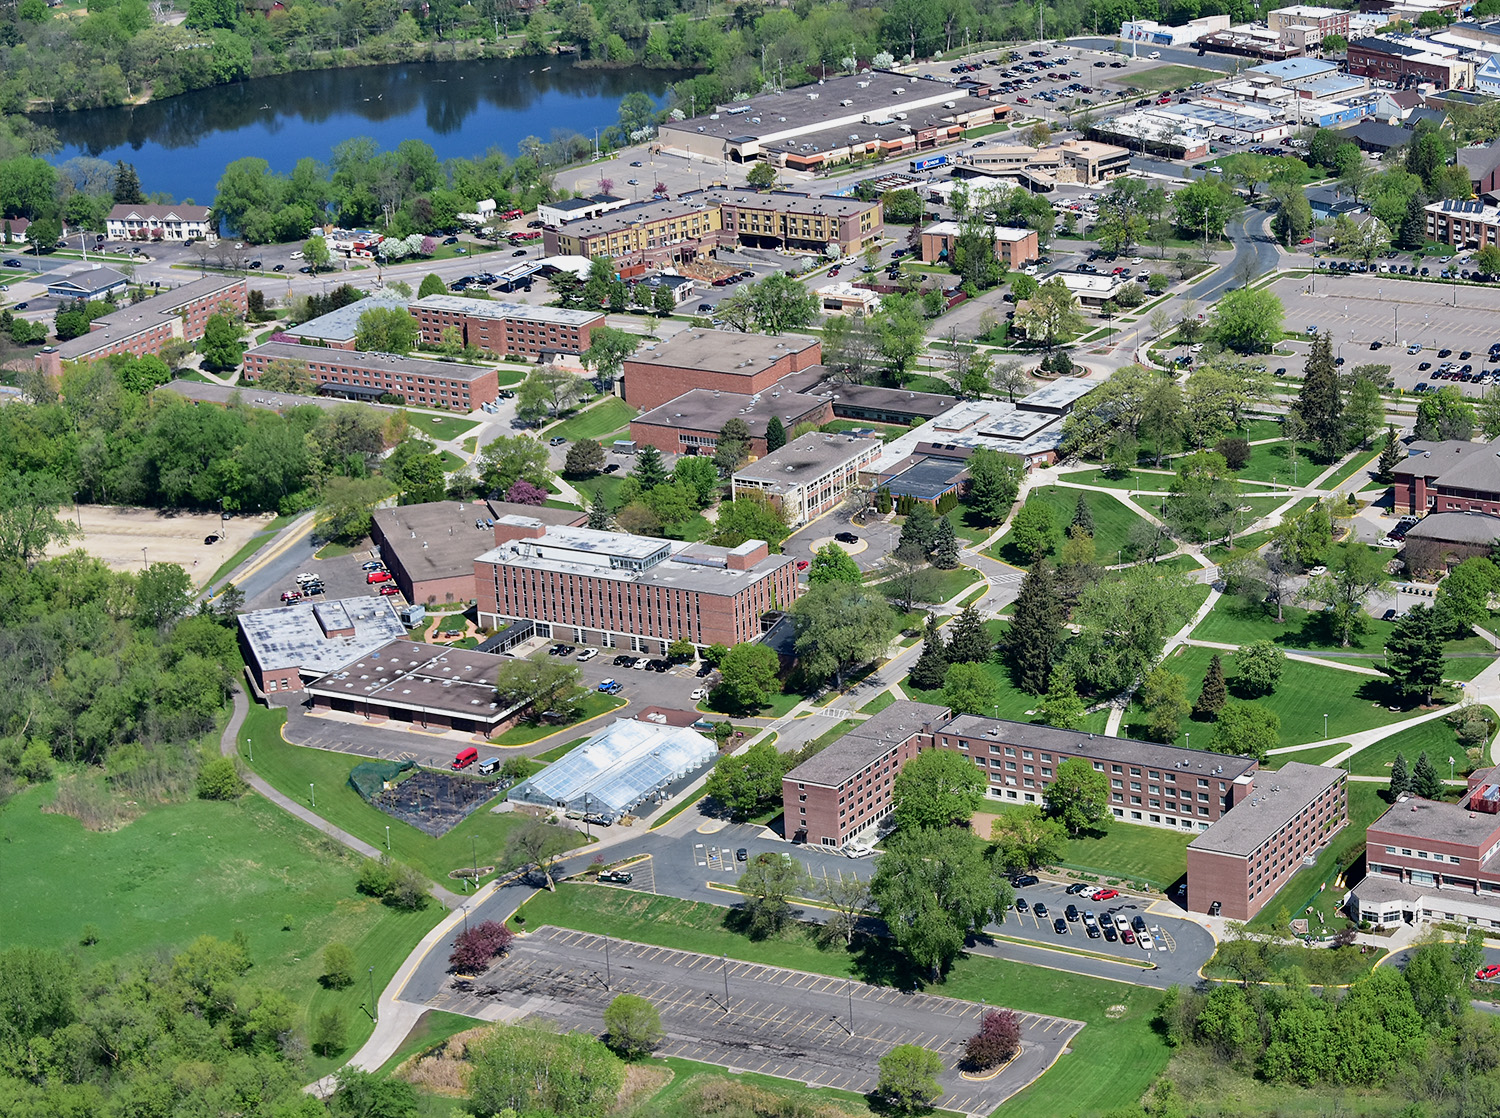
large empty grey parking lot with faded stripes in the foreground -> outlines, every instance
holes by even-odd
[[[975,1115],[990,1113],[1035,1080],[1083,1028],[1064,1017],[1022,1014],[1016,1061],[993,1079],[969,1080],[957,1067],[963,1043],[993,1005],[556,927],[519,939],[484,975],[459,980],[428,1004],[494,1016],[489,1005],[501,1001],[597,1034],[620,993],[644,996],[662,1014],[666,1038],[658,1056],[813,1086],[868,1092],[880,1056],[897,1044],[920,1044],[944,1061],[939,1106]]]

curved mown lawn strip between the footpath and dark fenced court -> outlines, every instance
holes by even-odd
[[[310,783],[318,815],[372,846],[386,848],[388,825],[392,858],[422,870],[442,885],[460,888],[448,878],[448,872],[471,864],[476,857],[480,864],[498,864],[506,839],[525,821],[520,815],[492,815],[480,807],[441,839],[434,839],[360,798],[350,786],[350,770],[360,758],[288,744],[280,735],[284,722],[284,711],[250,707],[246,728],[240,734],[240,758],[246,767],[302,804],[309,803]],[[250,750],[244,749],[244,737],[254,738],[254,764],[249,761]],[[470,839],[474,839],[472,846]],[[578,836],[578,840],[582,843],[584,836]]]

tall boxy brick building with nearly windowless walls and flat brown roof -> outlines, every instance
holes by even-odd
[[[657,408],[688,389],[765,395],[783,377],[824,359],[816,338],[735,330],[680,330],[626,359],[621,395],[638,408]]]

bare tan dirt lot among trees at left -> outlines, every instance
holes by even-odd
[[[74,509],[62,516],[75,522]],[[237,552],[255,533],[266,528],[272,516],[234,516],[219,519],[219,513],[162,512],[112,504],[81,504],[75,531],[68,543],[54,546],[60,555],[82,548],[116,570],[141,570],[146,563],[180,563],[195,585],[202,587],[219,564]],[[204,537],[224,536],[214,543]]]

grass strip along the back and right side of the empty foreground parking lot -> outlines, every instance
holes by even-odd
[[[814,974],[891,984],[904,971],[885,941],[860,942],[860,950],[850,953],[842,947],[820,947],[802,924],[794,924],[772,939],[752,941],[730,930],[726,920],[729,911],[716,905],[644,893],[621,894],[600,885],[564,884],[556,893],[537,894],[520,911],[528,927],[576,927]],[[1084,1022],[1086,1028],[1072,1041],[1068,1055],[1010,1100],[999,1112],[1004,1118],[1102,1115],[1132,1104],[1167,1062],[1168,1050],[1150,1025],[1161,995],[1142,986],[966,956],[946,981],[926,990]]]

